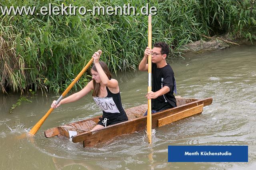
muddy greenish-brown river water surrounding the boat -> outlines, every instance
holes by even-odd
[[[19,95],[0,95],[0,169],[254,169],[256,168],[256,46],[191,53],[168,61],[178,95],[213,97],[202,115],[155,128],[152,146],[146,132],[83,148],[66,138],[45,138],[44,130],[100,115],[91,95],[55,109],[34,138],[26,133],[48,111],[53,94],[30,95],[12,114]],[[147,103],[147,73],[118,73],[124,108]],[[107,135],[107,134],[106,134]],[[168,145],[248,145],[249,163],[168,162]]]

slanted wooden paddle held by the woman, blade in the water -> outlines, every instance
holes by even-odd
[[[97,51],[98,53],[100,53],[100,50]],[[90,61],[86,64],[86,66],[82,69],[82,71],[80,71],[80,73],[76,76],[76,78],[74,79],[74,81],[72,81],[72,83],[70,83],[70,85],[68,86],[68,88],[62,93],[62,95],[58,98],[58,100],[56,101],[56,105],[58,105],[58,103],[60,103],[60,101],[62,100],[63,97],[66,96],[66,94],[70,91],[70,89],[74,86],[74,84],[80,79],[80,77],[84,74],[84,72],[88,69],[88,67],[90,67],[90,65],[93,62],[93,58],[90,59]],[[28,132],[29,134],[36,134],[36,132],[38,131],[38,129],[42,126],[42,124],[44,123],[44,121],[46,120],[46,118],[50,115],[50,113],[52,113],[54,109],[50,108],[48,110],[48,112],[44,115],[44,117],[42,117],[42,119],[40,119],[40,121],[38,121],[38,123],[36,123],[36,125],[34,125],[34,127],[30,130],[30,132]]]

